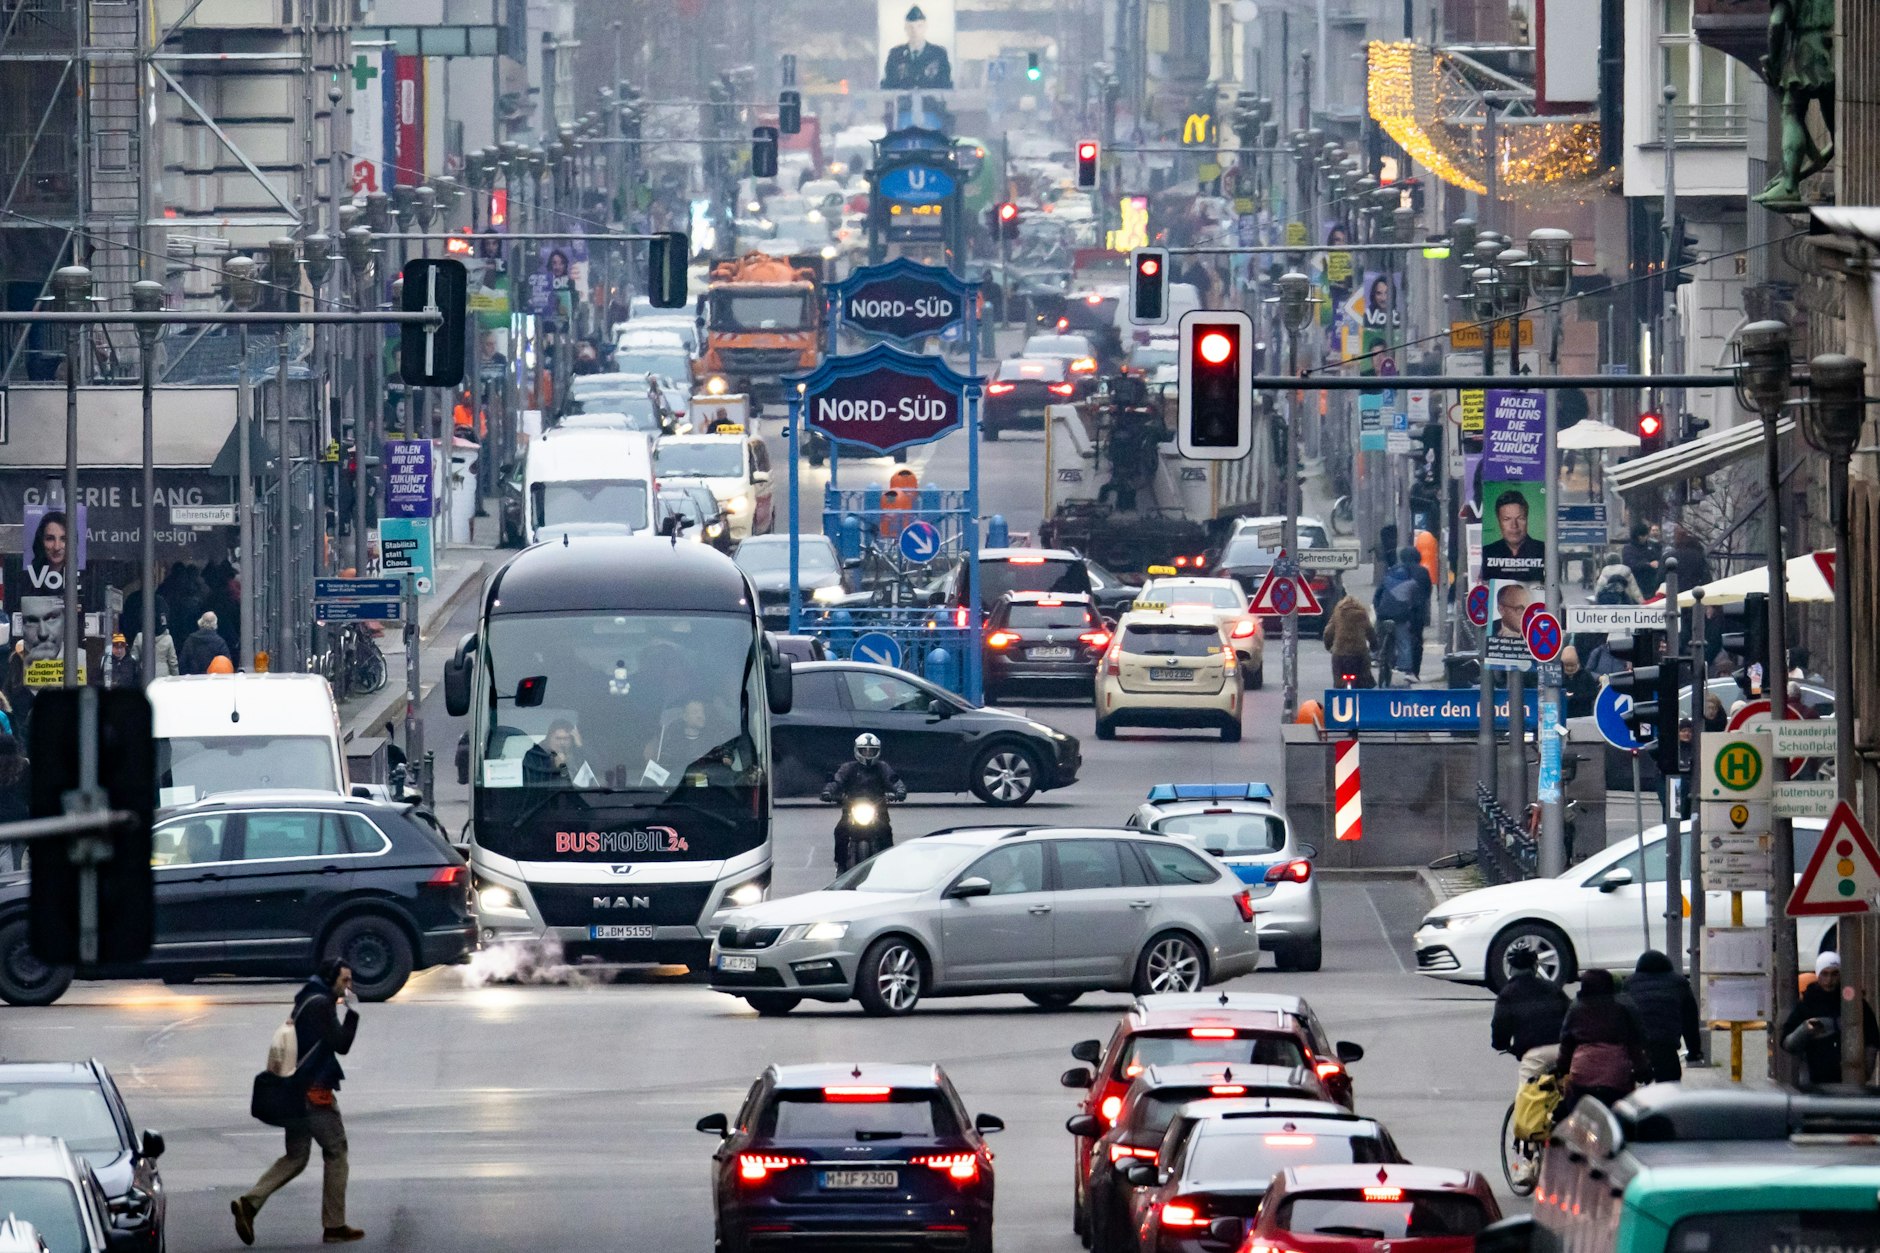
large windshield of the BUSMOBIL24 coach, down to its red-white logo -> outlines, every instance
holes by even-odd
[[[493,617],[478,843],[517,860],[697,860],[761,841],[756,643],[754,623],[731,613]],[[696,822],[649,820],[662,807]]]

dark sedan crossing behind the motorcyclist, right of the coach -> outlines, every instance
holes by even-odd
[[[1023,805],[1083,768],[1077,738],[1043,722],[976,709],[902,670],[814,662],[795,666],[795,704],[771,721],[776,794],[820,794],[861,732],[882,738],[882,760],[910,792],[972,792],[987,805]]]

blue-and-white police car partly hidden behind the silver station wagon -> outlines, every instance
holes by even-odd
[[[1265,783],[1158,783],[1126,826],[1171,835],[1214,854],[1254,897],[1260,946],[1282,971],[1316,971],[1320,939],[1318,849],[1293,839]]]

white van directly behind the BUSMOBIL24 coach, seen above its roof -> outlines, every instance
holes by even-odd
[[[643,431],[549,431],[523,459],[528,544],[581,534],[652,534],[652,438]]]

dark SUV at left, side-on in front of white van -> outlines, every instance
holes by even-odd
[[[408,805],[222,792],[158,817],[152,867],[150,956],[109,978],[299,978],[340,958],[361,999],[385,1001],[412,971],[476,948],[470,867]],[[32,956],[26,875],[0,877],[0,999],[51,1005],[71,976]]]

